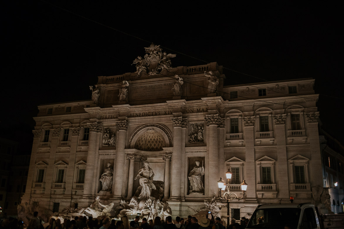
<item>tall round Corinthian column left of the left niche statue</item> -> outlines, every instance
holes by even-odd
[[[89,128],[88,137],[88,151],[87,151],[87,161],[86,161],[86,171],[85,171],[85,183],[84,183],[84,196],[89,196],[92,194],[92,184],[95,182],[94,170],[95,170],[95,159],[97,151],[97,133],[101,132],[103,124],[100,123],[87,123]]]

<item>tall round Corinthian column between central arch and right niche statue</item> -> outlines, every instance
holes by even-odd
[[[171,118],[173,124],[173,159],[171,170],[171,199],[180,198],[180,170],[182,154],[182,126],[183,118]],[[165,185],[166,186],[166,185]]]

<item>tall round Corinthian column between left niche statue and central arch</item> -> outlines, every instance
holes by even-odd
[[[125,142],[126,142],[126,133],[128,128],[128,122],[118,121],[116,122],[117,125],[117,146],[116,146],[116,167],[115,167],[115,183],[114,185],[114,198],[121,199],[124,196],[122,193],[122,185],[124,183],[123,178],[125,177],[125,162],[126,162],[126,154],[124,152],[125,149]]]

